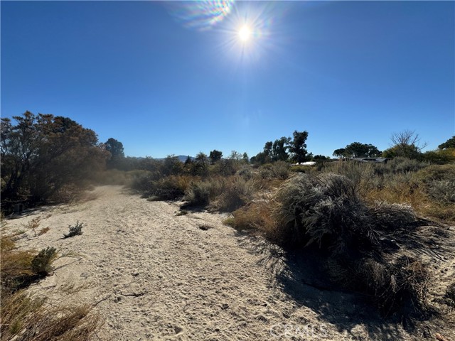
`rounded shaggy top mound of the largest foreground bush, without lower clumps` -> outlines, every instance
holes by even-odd
[[[335,174],[319,177],[296,174],[283,183],[275,200],[279,203],[275,210],[277,235],[284,244],[321,242],[321,235],[317,237],[319,232],[338,234],[334,229],[355,222],[359,210],[365,210],[358,204],[354,183]]]

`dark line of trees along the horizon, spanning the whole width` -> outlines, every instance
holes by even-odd
[[[49,200],[71,186],[83,186],[97,173],[116,168],[120,171],[143,169],[158,176],[180,173],[207,175],[215,169],[220,175],[235,173],[241,165],[263,165],[276,161],[302,163],[320,161],[328,157],[307,151],[308,131],[294,131],[290,137],[267,141],[262,151],[249,158],[247,153],[232,151],[227,158],[213,149],[207,155],[188,156],[181,162],[176,156],[164,161],[154,158],[124,156],[122,142],[109,138],[100,143],[95,131],[84,128],[68,117],[25,112],[21,116],[1,119],[1,204],[26,200],[31,204]],[[446,163],[455,159],[455,136],[440,144],[437,151],[422,152],[418,134],[404,131],[393,134],[392,146],[379,151],[372,144],[353,142],[333,151],[337,157],[395,157],[403,156],[432,163]]]

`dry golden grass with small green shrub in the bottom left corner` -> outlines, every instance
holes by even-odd
[[[88,340],[100,316],[88,305],[58,307],[30,297],[23,288],[52,271],[57,255],[48,247],[38,254],[17,250],[11,237],[1,237],[0,340]]]

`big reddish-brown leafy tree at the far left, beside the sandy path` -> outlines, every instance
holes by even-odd
[[[13,119],[1,119],[2,201],[46,200],[105,167],[104,145],[72,119],[31,112]]]

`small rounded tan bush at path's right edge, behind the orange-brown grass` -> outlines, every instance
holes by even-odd
[[[256,185],[255,180],[245,180],[240,176],[230,178],[215,201],[215,207],[221,211],[236,210],[252,199],[252,195],[257,191]]]

